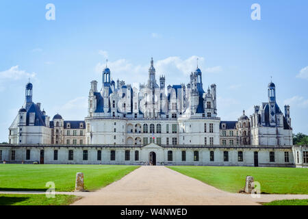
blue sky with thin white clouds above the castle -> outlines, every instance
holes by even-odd
[[[272,77],[294,133],[308,134],[307,8],[306,0],[1,0],[0,142],[8,142],[29,79],[51,119],[83,120],[105,60],[114,80],[137,85],[147,81],[151,57],[166,86],[188,83],[198,58],[203,88],[217,85],[221,120],[253,114],[268,101]]]

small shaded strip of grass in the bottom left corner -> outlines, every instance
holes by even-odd
[[[45,194],[0,194],[0,205],[70,205],[78,196],[57,194],[47,198]]]

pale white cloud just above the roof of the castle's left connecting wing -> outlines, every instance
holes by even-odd
[[[59,113],[64,120],[84,120],[88,112],[88,98],[79,96],[64,105],[55,105],[51,112]],[[51,119],[53,118],[53,115],[49,116],[51,116]]]

